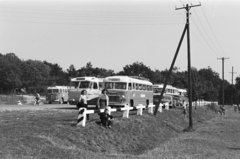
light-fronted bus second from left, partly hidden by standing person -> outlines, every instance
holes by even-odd
[[[69,99],[70,105],[76,105],[80,98],[82,90],[87,91],[88,105],[97,106],[97,100],[101,94],[103,85],[103,78],[97,77],[76,77],[71,79],[69,88]]]

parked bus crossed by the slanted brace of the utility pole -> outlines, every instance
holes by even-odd
[[[163,84],[153,85],[153,103],[154,104],[157,104],[159,100],[159,96],[161,95],[162,89],[163,89]],[[178,89],[171,85],[167,85],[163,93],[163,98],[161,102],[169,103],[169,106],[173,108],[178,106],[180,102]]]

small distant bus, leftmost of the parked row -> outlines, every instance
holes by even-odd
[[[46,92],[46,102],[52,104],[58,102],[59,104],[68,102],[68,87],[67,86],[53,86],[48,87]]]

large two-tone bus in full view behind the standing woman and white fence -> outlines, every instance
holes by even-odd
[[[136,76],[110,76],[104,79],[111,107],[149,105],[153,102],[152,85],[148,79]]]

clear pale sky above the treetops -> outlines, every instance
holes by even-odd
[[[134,62],[169,69],[190,9],[191,66],[240,75],[239,0],[0,0],[0,53],[115,73]],[[187,70],[187,36],[175,66]]]

